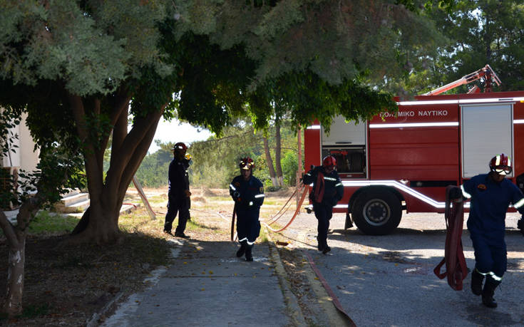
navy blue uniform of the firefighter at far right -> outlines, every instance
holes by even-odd
[[[471,198],[468,217],[476,269],[500,281],[507,265],[505,214],[510,204],[524,214],[524,195],[510,180],[497,183],[489,174],[477,175],[463,183],[464,197]]]

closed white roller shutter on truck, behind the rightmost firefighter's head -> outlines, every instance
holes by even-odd
[[[461,108],[462,177],[488,172],[488,162],[496,154],[505,153],[513,160],[513,103]]]

